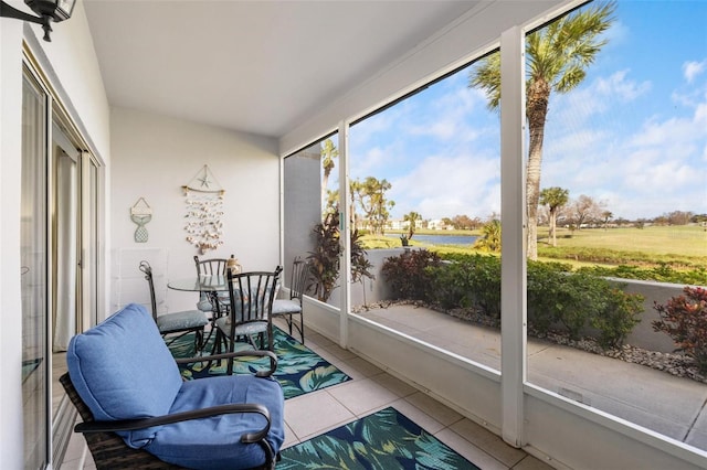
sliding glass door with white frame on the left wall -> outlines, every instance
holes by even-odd
[[[97,160],[29,67],[22,96],[21,287],[24,468],[57,467],[73,408],[57,380],[99,303]]]

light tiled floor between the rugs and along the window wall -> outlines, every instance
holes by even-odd
[[[393,406],[484,470],[550,469],[545,462],[506,445],[499,437],[453,409],[342,350],[326,338],[312,333],[312,330],[307,332],[306,341],[307,346],[352,380],[286,400],[284,447]],[[84,448],[83,438],[72,436],[61,469],[95,469],[89,452],[84,451]]]

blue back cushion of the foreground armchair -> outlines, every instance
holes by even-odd
[[[152,317],[136,303],[72,338],[66,363],[76,392],[96,420],[165,415],[182,386]],[[154,431],[122,436],[128,445],[141,447]]]

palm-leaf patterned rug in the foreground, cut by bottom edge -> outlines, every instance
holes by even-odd
[[[277,470],[481,470],[389,407],[282,451]]]

